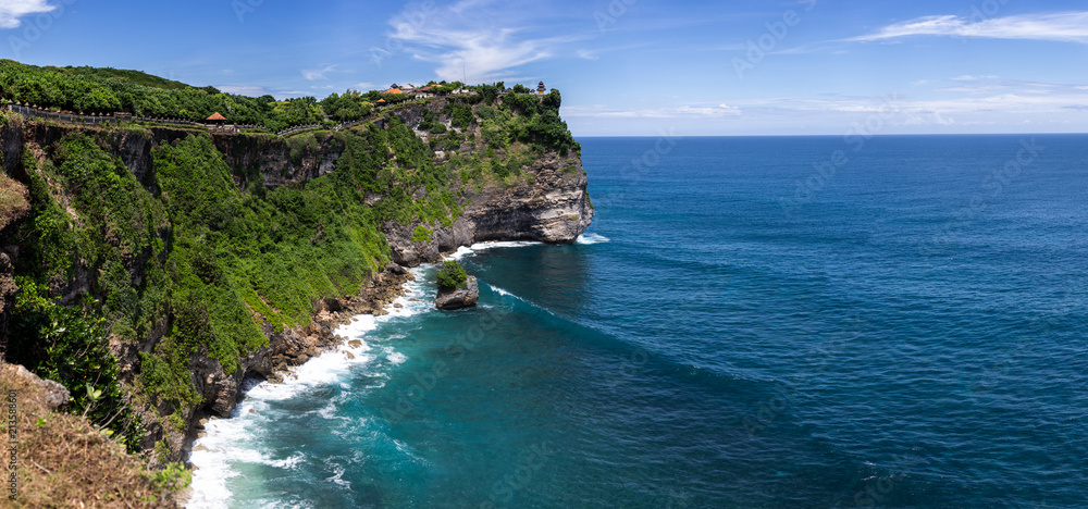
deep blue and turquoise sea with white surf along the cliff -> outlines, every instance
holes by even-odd
[[[1088,136],[581,142],[578,244],[417,269],[189,507],[1088,507]]]

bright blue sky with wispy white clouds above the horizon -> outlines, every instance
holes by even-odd
[[[0,0],[0,58],[281,99],[543,80],[576,137],[1088,132],[1083,0]]]

